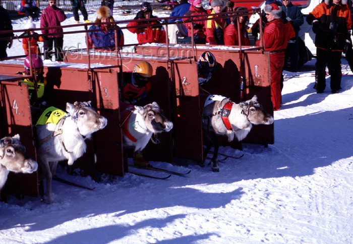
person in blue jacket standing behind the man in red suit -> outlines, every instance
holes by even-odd
[[[291,50],[289,52],[290,67],[289,71],[297,72],[298,61],[299,61],[299,36],[298,32],[300,26],[304,23],[304,17],[301,10],[291,3],[291,0],[282,0],[282,11],[285,13],[286,20],[292,25],[296,36],[293,38],[292,42],[288,45]],[[288,48],[288,47],[287,47]],[[286,66],[286,62],[284,64]]]

